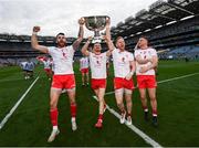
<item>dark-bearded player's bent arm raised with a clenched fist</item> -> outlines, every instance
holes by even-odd
[[[48,53],[48,47],[44,46],[44,45],[40,45],[38,43],[36,34],[38,34],[39,31],[40,31],[40,27],[34,27],[33,28],[33,33],[32,33],[32,36],[31,36],[32,49],[38,50],[38,51],[43,52],[43,53]]]

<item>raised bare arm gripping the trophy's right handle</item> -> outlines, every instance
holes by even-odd
[[[113,41],[112,41],[112,36],[111,36],[111,20],[109,18],[106,18],[106,35],[105,35],[105,41],[106,44],[108,46],[108,51],[106,52],[107,56],[111,56],[112,51],[115,49]]]

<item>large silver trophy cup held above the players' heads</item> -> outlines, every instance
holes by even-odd
[[[106,18],[109,19],[107,15],[93,15],[93,17],[84,17],[85,19],[85,27],[94,31],[93,43],[102,42],[102,36],[100,31],[104,30],[106,27]]]

